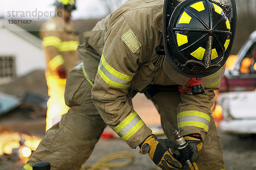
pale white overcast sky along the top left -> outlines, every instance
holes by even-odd
[[[108,0],[111,2],[111,0]],[[115,0],[112,0],[113,2]],[[125,2],[125,0],[119,0]],[[53,14],[55,9],[52,4],[54,0],[1,0],[3,7],[0,8],[0,16],[20,17],[22,14],[29,15],[26,19],[45,19],[48,15]],[[73,19],[101,18],[107,15],[108,10],[102,0],[76,0],[77,10],[73,11]],[[117,8],[116,3],[111,8]],[[33,13],[34,12],[34,13]],[[49,13],[45,13],[49,12]],[[42,13],[45,13],[42,15]],[[23,17],[23,16],[21,16]],[[23,17],[25,18],[25,17]]]

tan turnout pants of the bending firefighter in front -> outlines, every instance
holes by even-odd
[[[91,88],[81,65],[70,72],[65,90],[66,103],[70,109],[62,116],[61,122],[47,131],[27,162],[30,166],[38,161],[49,161],[52,170],[79,170],[88,159],[106,127],[91,101]],[[176,110],[180,103],[177,86],[160,88],[151,100],[161,115],[166,136],[174,141],[172,132],[177,129]],[[220,137],[211,118],[209,133],[197,162],[199,169],[223,169],[222,155]]]

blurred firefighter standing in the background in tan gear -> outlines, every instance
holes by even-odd
[[[45,76],[49,95],[46,131],[59,122],[61,115],[69,109],[64,101],[66,77],[79,63],[76,51],[79,36],[70,23],[71,12],[76,9],[76,2],[56,0],[54,5],[57,16],[50,18],[40,30],[47,62]]]

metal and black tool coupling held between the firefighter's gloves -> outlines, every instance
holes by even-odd
[[[181,135],[180,130],[178,130],[178,129],[174,130],[173,134],[174,134],[177,144],[179,145],[178,150],[180,152],[180,156],[188,165],[189,170],[198,170],[197,164],[195,162],[190,161],[190,158],[192,156],[192,150],[191,150],[188,142]]]

